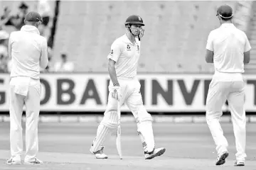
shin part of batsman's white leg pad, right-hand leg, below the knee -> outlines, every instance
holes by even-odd
[[[152,122],[143,121],[138,124],[138,129],[138,135],[142,140],[144,152],[152,152],[155,147]]]

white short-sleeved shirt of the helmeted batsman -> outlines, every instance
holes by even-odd
[[[136,38],[136,43],[132,43],[127,35],[114,40],[111,45],[110,54],[107,59],[116,62],[114,67],[116,69],[117,78],[134,78],[137,75],[137,64],[140,55],[140,42]]]

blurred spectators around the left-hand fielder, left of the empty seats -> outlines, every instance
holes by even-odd
[[[28,11],[37,11],[41,14],[43,22],[38,30],[41,35],[48,40],[49,64],[41,72],[73,72],[74,64],[68,61],[68,56],[64,52],[60,54],[60,62],[51,62],[53,57],[53,29],[55,28],[54,13],[56,1],[1,1],[0,16],[0,72],[11,71],[11,60],[8,57],[8,42],[12,31],[21,30],[24,26],[24,19]],[[58,12],[58,11],[57,11]]]

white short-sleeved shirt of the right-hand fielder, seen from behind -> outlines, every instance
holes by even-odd
[[[223,23],[208,35],[206,49],[213,51],[215,71],[243,73],[244,52],[251,49],[250,42],[242,30],[233,23]]]

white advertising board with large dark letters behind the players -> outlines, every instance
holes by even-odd
[[[146,109],[202,112],[211,74],[139,74]],[[41,74],[41,111],[105,111],[108,74]],[[256,111],[256,77],[245,76],[245,108]],[[0,111],[9,111],[9,74],[0,77]],[[225,110],[226,107],[223,106]],[[129,111],[124,105],[122,111]]]

